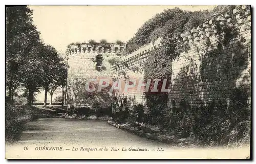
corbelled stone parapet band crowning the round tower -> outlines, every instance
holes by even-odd
[[[72,44],[70,48],[67,49],[67,53],[70,54],[81,54],[81,53],[114,53],[118,54],[124,52],[126,49],[126,44],[116,44],[116,43],[82,43],[82,44]]]

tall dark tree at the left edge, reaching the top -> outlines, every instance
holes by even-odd
[[[27,6],[7,8],[6,18],[6,87],[7,101],[12,101],[16,88],[26,73],[26,60],[39,42],[39,32],[32,24],[32,10]],[[28,74],[27,74],[28,75]]]

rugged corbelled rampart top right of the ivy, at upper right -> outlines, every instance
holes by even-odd
[[[193,28],[190,31],[186,31],[181,34],[181,38],[185,45],[195,46],[204,48],[205,41],[210,38],[212,45],[218,43],[220,37],[224,37],[224,27],[239,28],[239,32],[243,32],[251,28],[251,15],[250,7],[242,6],[241,8],[233,9],[225,14],[212,15],[210,19],[205,21],[202,25],[197,28]],[[204,43],[203,43],[204,42]]]

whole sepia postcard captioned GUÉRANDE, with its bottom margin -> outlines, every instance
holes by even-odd
[[[6,6],[6,159],[251,159],[251,6]]]

